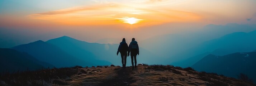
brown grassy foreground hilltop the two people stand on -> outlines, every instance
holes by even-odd
[[[169,65],[139,65],[134,70],[119,66],[53,68],[5,74],[0,82],[1,86],[256,86],[248,81]]]

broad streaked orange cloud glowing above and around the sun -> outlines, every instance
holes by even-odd
[[[140,19],[137,24],[138,26],[157,25],[168,22],[195,22],[202,19],[200,15],[186,11],[161,9],[160,7],[157,9],[155,7],[143,8],[143,6],[128,6],[114,3],[66,8],[31,14],[28,17],[68,25],[123,24],[122,18],[136,18]]]

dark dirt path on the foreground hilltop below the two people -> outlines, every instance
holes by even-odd
[[[112,80],[108,80],[101,84],[101,86],[129,86],[133,81],[130,74],[132,72],[131,67],[115,69],[117,77]]]

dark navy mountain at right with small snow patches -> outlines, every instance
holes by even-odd
[[[209,54],[191,67],[197,71],[215,72],[234,78],[244,73],[256,81],[255,62],[256,52],[232,53],[224,56]]]

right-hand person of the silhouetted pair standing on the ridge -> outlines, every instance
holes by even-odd
[[[137,67],[137,60],[136,60],[136,56],[137,54],[139,55],[139,45],[138,42],[135,41],[135,38],[132,38],[132,42],[129,44],[129,50],[128,50],[128,56],[130,55],[131,52],[131,59],[132,59],[132,69],[134,69]],[[135,65],[133,65],[133,58],[134,58],[134,63]]]

